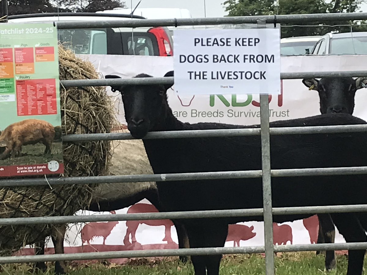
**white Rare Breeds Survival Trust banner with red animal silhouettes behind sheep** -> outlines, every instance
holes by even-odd
[[[88,56],[83,56],[88,58]],[[147,73],[162,77],[173,69],[172,57],[159,56],[106,56],[91,55],[90,60],[97,70],[106,74],[117,74],[123,78],[131,78],[139,73]],[[281,72],[312,71],[350,71],[364,70],[367,56],[302,56],[282,57]],[[258,95],[177,95],[174,87],[168,90],[168,103],[174,114],[183,122],[222,122],[230,124],[258,124]],[[121,95],[112,93],[115,106],[119,110],[118,118],[126,124]],[[316,91],[309,91],[301,79],[283,80],[280,95],[269,96],[270,121],[317,115],[319,96]],[[367,120],[367,110],[363,102],[367,102],[367,89],[356,92],[356,106],[353,115]],[[156,209],[144,199],[130,208],[120,209],[111,214],[152,212]],[[106,214],[90,211],[77,214]],[[107,213],[108,214],[108,213]],[[274,242],[278,244],[306,244],[317,240],[318,220],[316,216],[308,219],[274,224]],[[81,232],[80,232],[81,230]],[[136,241],[131,236],[135,234]],[[345,242],[338,233],[335,242]],[[70,228],[65,241],[65,252],[94,252],[138,249],[172,249],[178,248],[177,234],[169,220],[82,223]],[[225,246],[264,245],[264,223],[247,222],[229,226],[229,234]],[[53,253],[52,243],[48,243]],[[22,250],[23,254],[32,254],[32,249]],[[126,259],[113,259],[115,263],[123,263]]]

